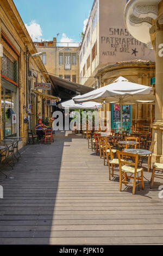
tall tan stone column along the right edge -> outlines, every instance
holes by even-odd
[[[163,163],[163,1],[159,4],[158,18],[149,29],[155,50],[155,120],[151,125],[155,141],[153,162]]]

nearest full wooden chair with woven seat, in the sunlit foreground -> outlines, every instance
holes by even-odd
[[[127,152],[117,151],[118,162],[120,167],[120,191],[122,190],[122,182],[127,186],[128,183],[133,184],[133,194],[135,194],[136,186],[141,184],[142,190],[144,189],[143,182],[143,168],[137,168],[138,164],[138,154],[131,154]],[[129,159],[133,159],[133,162],[130,162]],[[129,175],[127,175],[129,173]],[[140,177],[139,177],[140,174]],[[133,179],[134,182],[131,182],[127,179]],[[138,181],[136,183],[136,180]]]

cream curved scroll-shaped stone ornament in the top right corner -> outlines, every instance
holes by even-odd
[[[158,16],[160,2],[161,0],[128,0],[124,10],[124,22],[129,33],[148,48],[153,48],[149,29],[152,27],[152,19]]]

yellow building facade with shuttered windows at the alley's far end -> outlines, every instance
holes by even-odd
[[[57,39],[53,41],[34,42],[38,52],[42,52],[42,62],[49,74],[67,81],[79,83],[79,52],[80,48],[73,43],[57,46]],[[77,43],[74,43],[77,44]]]

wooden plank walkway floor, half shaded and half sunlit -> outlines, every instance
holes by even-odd
[[[83,137],[57,132],[51,145],[27,145],[0,174],[0,244],[162,245],[163,199],[109,181],[108,166]],[[145,178],[151,173],[145,169]]]

